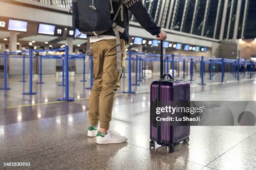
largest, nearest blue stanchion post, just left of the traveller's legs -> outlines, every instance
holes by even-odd
[[[66,86],[65,86],[65,97],[61,97],[58,100],[59,101],[74,101],[77,100],[74,97],[69,97],[69,47],[65,46],[65,80],[66,80]]]

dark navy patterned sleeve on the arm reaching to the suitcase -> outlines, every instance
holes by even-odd
[[[158,35],[160,33],[161,27],[158,27],[156,22],[154,22],[147,8],[143,6],[142,0],[123,0],[123,4],[146,31],[152,35]]]

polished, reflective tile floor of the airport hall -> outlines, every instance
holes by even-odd
[[[128,77],[128,75],[126,75]],[[158,75],[146,77],[141,86],[128,90],[122,80],[113,109],[111,127],[128,136],[122,144],[97,145],[87,137],[88,97],[90,82],[82,76],[70,77],[70,97],[75,102],[59,102],[65,87],[61,77],[44,77],[46,84],[36,84],[38,95],[22,95],[28,82],[9,79],[13,90],[0,91],[0,169],[31,170],[255,170],[255,126],[192,126],[189,143],[175,145],[174,153],[157,145],[149,149],[149,85]],[[86,77],[89,79],[89,75]],[[191,100],[256,100],[256,80],[227,74],[220,83],[220,74],[207,85],[191,83]],[[134,75],[133,75],[134,81]],[[0,80],[0,86],[3,80]],[[7,162],[30,163],[29,167],[7,167]]]

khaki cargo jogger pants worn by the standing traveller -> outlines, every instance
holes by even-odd
[[[112,117],[115,91],[120,87],[120,79],[125,67],[126,41],[121,39],[121,72],[117,70],[116,40],[101,40],[92,43],[93,86],[89,97],[90,125],[109,128]]]

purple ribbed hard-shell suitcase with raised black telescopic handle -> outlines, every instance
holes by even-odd
[[[168,152],[174,152],[175,144],[184,141],[189,142],[190,126],[179,125],[174,122],[173,126],[156,125],[153,121],[154,115],[152,111],[153,102],[161,101],[190,101],[190,83],[187,80],[174,80],[171,75],[163,75],[163,53],[161,42],[161,76],[159,81],[151,83],[150,87],[150,148],[155,147],[155,141],[159,145],[166,145]]]

